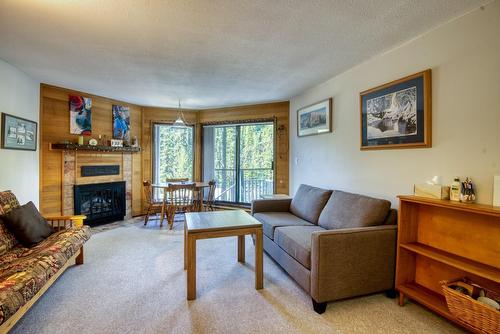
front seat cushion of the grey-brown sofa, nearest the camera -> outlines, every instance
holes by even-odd
[[[278,227],[274,232],[274,242],[297,262],[311,269],[311,234],[324,230],[316,225]]]

